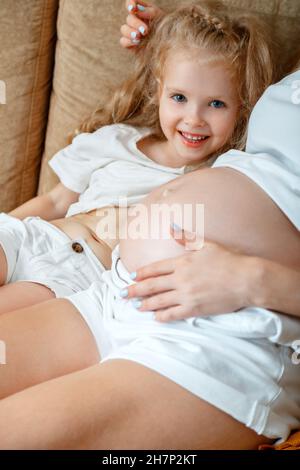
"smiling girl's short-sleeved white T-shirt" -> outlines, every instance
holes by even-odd
[[[192,168],[170,168],[144,155],[137,142],[150,129],[125,124],[105,126],[93,133],[79,134],[68,147],[60,150],[49,165],[60,181],[81,193],[67,217],[109,205],[139,203],[152,189],[183,175]]]

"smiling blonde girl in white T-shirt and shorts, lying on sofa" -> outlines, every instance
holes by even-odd
[[[249,112],[272,77],[270,53],[255,18],[213,7],[158,19],[131,79],[50,161],[60,183],[1,215],[1,313],[88,288],[110,266],[118,227],[101,227],[119,220],[121,198],[136,204],[243,148]]]

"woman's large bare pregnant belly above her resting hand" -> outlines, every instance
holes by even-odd
[[[184,175],[157,188],[143,203],[144,210],[139,216],[143,235],[134,233],[133,218],[129,218],[128,237],[120,240],[121,258],[130,272],[184,253],[181,245],[167,238],[168,224],[173,221],[171,210],[169,220],[164,215],[164,220],[158,222],[160,230],[153,227],[158,221],[153,217],[153,210],[157,212],[155,206],[178,205],[177,210],[184,213],[181,226],[195,230],[197,204],[204,205],[204,239],[300,268],[299,232],[260,187],[235,170],[205,169]],[[186,211],[188,206],[193,207],[191,212]],[[161,213],[165,214],[164,210]]]

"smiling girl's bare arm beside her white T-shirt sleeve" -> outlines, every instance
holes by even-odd
[[[78,201],[79,194],[59,183],[49,193],[34,197],[9,214],[24,219],[28,216],[39,216],[44,220],[64,217],[71,204]]]

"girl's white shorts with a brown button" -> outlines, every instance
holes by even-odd
[[[39,217],[0,214],[0,245],[8,265],[6,284],[36,282],[56,297],[87,289],[105,271],[84,240],[70,239]]]

